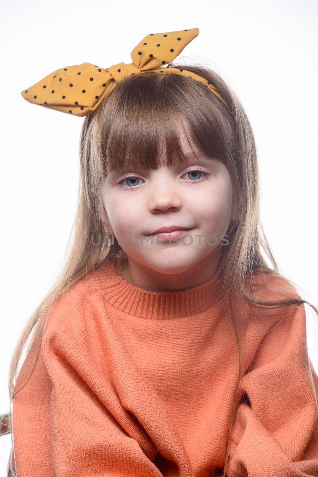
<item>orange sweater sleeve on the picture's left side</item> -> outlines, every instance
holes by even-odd
[[[101,363],[94,367],[72,336],[45,332],[36,368],[14,398],[17,477],[161,477],[138,422],[99,374]]]

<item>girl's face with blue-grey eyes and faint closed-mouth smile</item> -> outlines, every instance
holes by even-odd
[[[181,137],[188,155],[186,137]],[[189,156],[188,163],[178,166],[114,171],[106,177],[103,202],[108,233],[128,256],[123,275],[128,281],[147,290],[167,290],[212,278],[233,218],[231,180],[221,161]],[[170,242],[169,236],[165,241],[154,236],[159,228],[172,226],[190,230],[178,240],[171,235]]]

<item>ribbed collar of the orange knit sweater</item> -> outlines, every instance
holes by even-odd
[[[93,272],[95,289],[117,310],[140,318],[165,320],[194,315],[222,301],[222,278],[218,269],[211,280],[194,288],[149,291],[117,275],[108,262]]]

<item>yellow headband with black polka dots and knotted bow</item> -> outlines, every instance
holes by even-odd
[[[130,74],[154,71],[185,74],[207,86],[228,108],[219,90],[205,78],[179,68],[162,67],[172,62],[198,35],[198,28],[150,33],[130,53],[132,63],[118,63],[109,68],[99,68],[92,63],[65,66],[21,91],[21,95],[26,101],[45,108],[74,116],[86,116],[95,111],[106,94],[112,91],[122,78]]]

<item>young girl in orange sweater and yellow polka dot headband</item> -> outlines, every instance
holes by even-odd
[[[72,249],[11,361],[18,477],[318,476],[308,302],[261,236],[242,105],[171,65],[198,34],[21,92],[85,119]]]

